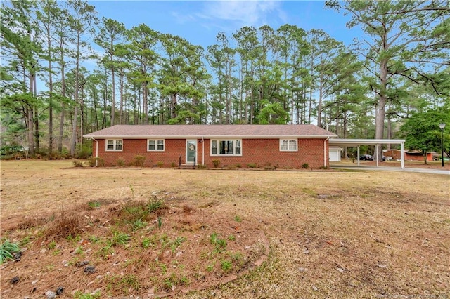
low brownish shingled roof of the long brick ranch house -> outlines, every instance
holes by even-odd
[[[305,125],[115,125],[85,138],[328,138],[338,137]]]

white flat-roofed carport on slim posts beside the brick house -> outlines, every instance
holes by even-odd
[[[336,139],[330,138],[328,145],[337,147],[357,147],[358,148],[358,166],[359,166],[359,147],[361,145],[374,145],[375,146],[375,159],[378,167],[378,145],[400,145],[401,153],[401,169],[405,168],[404,161],[404,139]]]

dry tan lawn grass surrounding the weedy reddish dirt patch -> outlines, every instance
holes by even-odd
[[[31,237],[32,244],[41,237],[39,230],[34,230],[42,225],[38,220],[58,215],[61,209],[77,211],[84,218],[92,216],[94,223],[101,227],[105,225],[103,222],[117,219],[119,212],[111,208],[123,207],[130,200],[146,202],[154,194],[163,194],[166,203],[173,201],[172,210],[166,212],[171,221],[168,233],[198,232],[207,223],[210,232],[228,234],[241,230],[242,236],[262,232],[269,239],[269,258],[261,267],[244,272],[226,284],[219,284],[221,272],[216,268],[215,280],[210,282],[217,286],[178,294],[177,298],[399,298],[400,295],[448,298],[450,295],[448,175],[379,171],[94,169],[73,168],[70,161],[4,161],[1,162],[1,237],[11,241]],[[98,201],[102,208],[93,211],[80,208],[90,201]],[[111,217],[105,211],[110,211]],[[22,230],[11,231],[26,222],[25,217],[35,220],[28,220]],[[57,216],[54,217],[56,220]],[[111,237],[111,233],[105,231],[104,235]],[[248,253],[249,256],[254,254],[253,260],[264,251],[259,248],[262,245],[255,241],[257,239],[252,239],[252,253]],[[48,246],[45,242],[37,245]],[[195,246],[190,242],[190,248]],[[8,282],[15,274],[27,284],[37,279],[41,284],[44,277],[52,277],[53,284],[42,283],[42,287],[53,286],[58,279],[67,281],[67,275],[73,275],[74,284],[79,286],[77,289],[102,288],[103,294],[108,284],[111,285],[108,280],[111,278],[106,276],[93,284],[86,275],[65,272],[60,263],[73,258],[70,251],[77,244],[61,249],[61,255],[39,255],[44,263],[38,263],[37,253],[32,251],[31,245],[29,247],[24,254],[26,268],[20,268],[22,261],[2,265],[1,290],[6,292],[2,297],[8,297],[19,288],[19,284],[11,286]],[[190,260],[204,257],[192,250]],[[239,250],[238,245],[236,250]],[[117,255],[131,260],[127,248],[119,246],[116,251]],[[143,279],[154,279],[148,267],[154,257],[139,251],[135,253],[134,262],[122,264],[126,264],[121,268],[122,276],[120,271],[115,272],[112,262],[98,262],[96,274],[103,276],[110,272],[113,282],[117,282],[113,284],[113,294],[139,294],[146,298],[155,291],[152,284],[142,283]],[[49,260],[44,255],[49,255]],[[247,267],[242,266],[241,270]],[[127,276],[129,274],[142,279],[139,281],[145,287],[139,291],[131,287],[124,290],[122,284],[131,286],[133,283],[134,277]],[[233,276],[225,279],[230,278]],[[186,290],[208,286],[200,280],[191,280]],[[153,285],[158,285],[158,281],[153,281]],[[178,289],[181,288],[184,286]],[[73,298],[70,292],[68,287],[65,298]]]

